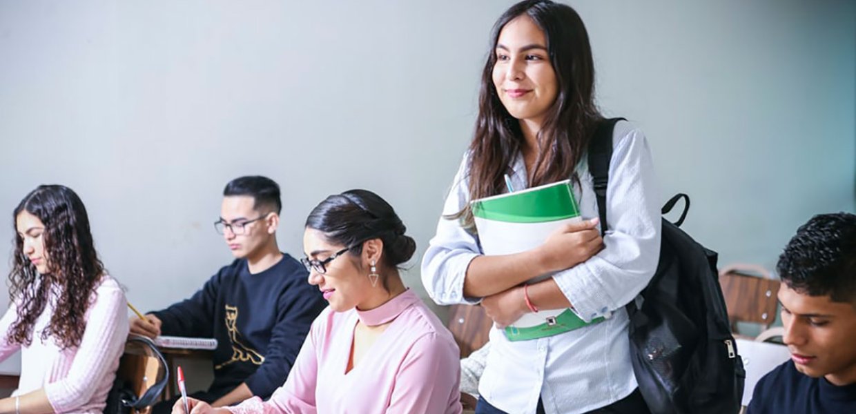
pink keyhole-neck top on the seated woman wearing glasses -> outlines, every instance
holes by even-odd
[[[389,322],[345,374],[357,321]],[[461,412],[461,363],[449,330],[407,290],[377,309],[336,313],[328,307],[315,322],[288,380],[266,402],[259,397],[235,413],[448,413]]]

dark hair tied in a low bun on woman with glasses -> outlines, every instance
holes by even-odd
[[[351,247],[351,254],[363,251],[363,242],[383,241],[381,265],[395,269],[410,260],[416,251],[416,241],[404,234],[407,227],[383,198],[368,190],[350,190],[324,198],[309,216],[306,228],[324,234],[332,243]],[[389,291],[387,278],[381,275],[382,286]]]

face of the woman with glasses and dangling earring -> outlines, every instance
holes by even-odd
[[[306,228],[303,233],[303,251],[310,260],[324,262],[345,247],[331,244],[314,228]],[[321,290],[332,310],[351,310],[372,299],[372,292],[377,289],[372,289],[365,269],[360,269],[361,260],[361,256],[345,251],[324,263],[324,274],[318,269],[309,270],[309,284]]]

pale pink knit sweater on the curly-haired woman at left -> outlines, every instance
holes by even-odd
[[[9,305],[0,319],[0,360],[21,350],[21,381],[13,395],[44,387],[56,412],[100,413],[128,338],[125,293],[115,279],[105,275],[86,310],[86,330],[80,346],[65,351],[52,337],[41,340],[42,331],[51,322],[57,293],[51,292],[45,311],[36,320],[30,346],[9,344],[7,334],[17,317],[15,303]]]

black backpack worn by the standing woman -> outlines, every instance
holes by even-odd
[[[598,125],[589,144],[589,172],[594,181],[601,228],[607,228],[606,188],[615,122]],[[716,252],[699,245],[679,227],[690,198],[677,194],[663,206],[667,214],[681,198],[681,218],[663,219],[657,272],[642,291],[630,316],[630,352],[639,392],[653,414],[727,414],[740,411],[746,371],[731,334]]]

